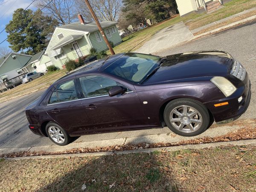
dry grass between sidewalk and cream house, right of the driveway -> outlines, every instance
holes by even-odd
[[[196,29],[198,27],[207,25],[217,20],[235,15],[236,13],[242,12],[244,10],[253,8],[256,6],[256,0],[233,0],[226,3],[223,8],[216,12],[212,12],[201,17],[195,18],[194,20],[186,23],[189,29]]]

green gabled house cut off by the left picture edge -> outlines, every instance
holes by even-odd
[[[0,58],[0,83],[26,73],[27,71],[23,71],[20,68],[23,67],[31,57],[31,55],[11,52]]]

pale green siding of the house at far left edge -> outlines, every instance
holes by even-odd
[[[12,55],[16,55],[16,59],[12,58]],[[29,55],[19,55],[12,53],[5,63],[0,67],[0,76],[8,75],[8,79],[12,79],[20,74],[17,73],[21,67],[23,67],[31,58]]]

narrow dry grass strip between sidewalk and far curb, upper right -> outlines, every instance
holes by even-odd
[[[224,22],[222,22],[222,23],[219,23],[219,24],[216,24],[216,25],[214,25],[214,26],[210,26],[210,27],[208,27],[208,28],[206,28],[206,29],[203,29],[203,30],[201,30],[201,31],[199,31],[199,32],[197,32],[197,33],[195,33],[194,35],[199,35],[199,34],[202,34],[202,33],[204,33],[204,32],[211,31],[211,30],[213,30],[213,29],[217,29],[217,28],[219,28],[219,27],[228,25],[228,24],[230,24],[230,23],[234,23],[234,22],[236,22],[236,21],[239,21],[239,20],[242,20],[242,19],[251,17],[251,16],[253,16],[253,15],[256,15],[256,11],[248,12],[248,13],[246,13],[246,14],[244,14],[244,15],[240,15],[240,16],[238,16],[238,17],[234,17],[234,18],[232,18],[232,19],[226,20],[226,21],[224,21]]]

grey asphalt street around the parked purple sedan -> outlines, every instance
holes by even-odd
[[[171,49],[158,52],[157,55],[171,55],[180,52],[190,52],[204,49],[218,49],[229,52],[235,56],[246,68],[251,84],[251,104],[240,119],[256,118],[254,108],[256,105],[256,23],[230,29],[216,35],[207,36]],[[24,113],[26,106],[34,101],[40,92],[12,99],[0,104],[0,148],[21,148],[32,146],[52,145],[47,137],[33,134],[28,128],[28,121]],[[79,137],[75,143],[97,140],[111,140],[118,138],[141,137],[147,135],[168,134],[168,128],[150,129],[140,131],[116,132],[108,134],[95,134]]]

